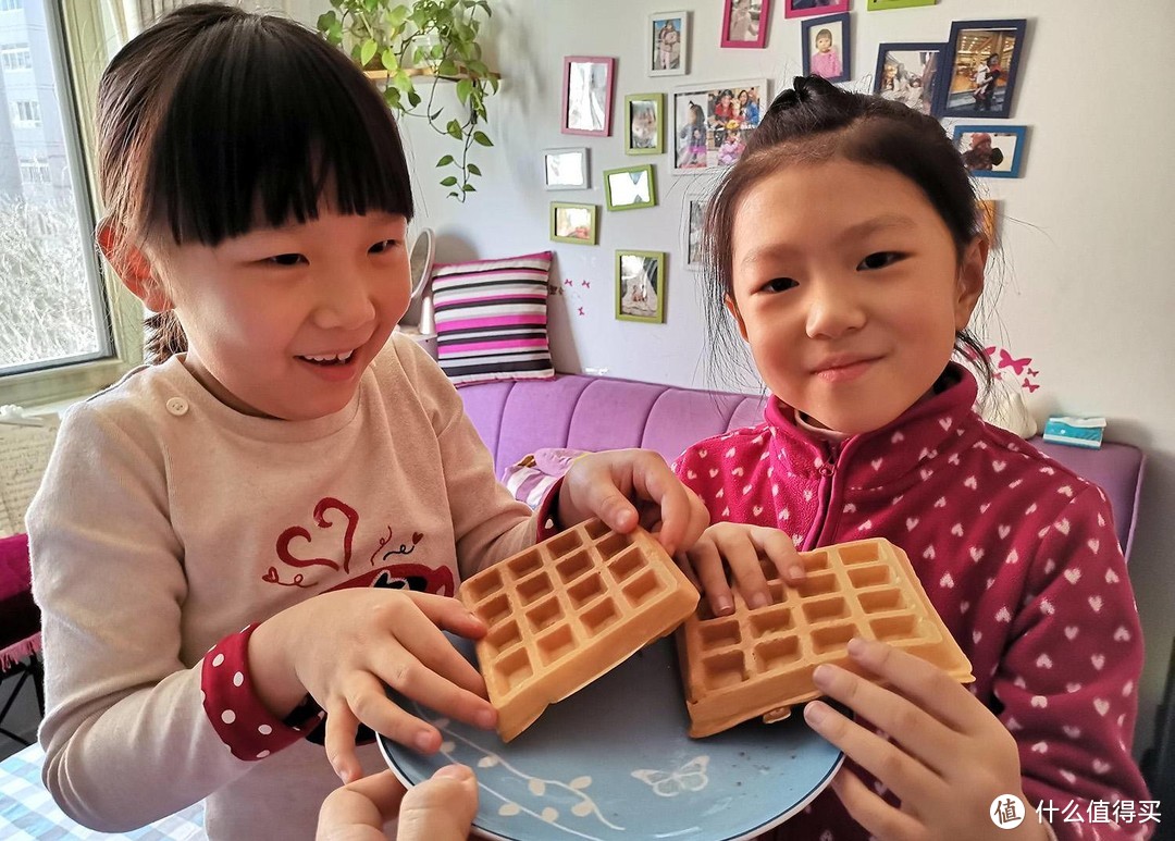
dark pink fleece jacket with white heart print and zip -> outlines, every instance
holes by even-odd
[[[954,384],[840,444],[772,398],[763,424],[691,446],[674,470],[712,522],[776,526],[800,551],[864,537],[901,546],[971,659],[975,695],[1020,746],[1029,807],[1058,809],[1060,839],[1144,837],[1153,821],[1115,809],[1137,812],[1149,795],[1130,755],[1142,635],[1109,504],[983,423],[968,372],[952,365],[944,382]],[[1090,822],[1097,801],[1121,822]],[[1070,802],[1085,826],[1065,821]],[[776,837],[867,833],[826,790]]]

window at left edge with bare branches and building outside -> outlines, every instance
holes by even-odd
[[[121,300],[112,308],[93,248],[94,201],[76,110],[93,92],[74,92],[62,19],[87,5],[0,0],[0,12],[22,11],[4,19],[0,62],[25,70],[5,74],[0,85],[12,116],[11,126],[0,123],[0,148],[15,152],[0,155],[0,404],[88,393],[126,368],[110,328],[123,321]],[[92,20],[83,26],[98,28]],[[105,56],[105,47],[82,49]],[[40,130],[20,130],[29,127]]]

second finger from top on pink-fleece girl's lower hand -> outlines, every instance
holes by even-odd
[[[812,675],[817,688],[848,705],[929,768],[945,774],[959,762],[959,734],[908,699],[844,668],[822,665]]]

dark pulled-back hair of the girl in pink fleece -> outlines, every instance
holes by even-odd
[[[838,157],[892,169],[916,184],[946,223],[960,262],[982,233],[967,168],[938,120],[900,102],[844,90],[820,76],[797,76],[767,108],[706,207],[701,242],[712,374],[745,358],[725,305],[733,288],[731,245],[740,200],[783,167]],[[955,334],[955,352],[991,385],[991,361],[969,330]]]

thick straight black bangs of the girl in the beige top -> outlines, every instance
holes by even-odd
[[[176,56],[143,184],[150,231],[215,245],[316,218],[322,200],[411,218],[391,112],[350,59],[307,34],[280,18],[234,18]]]

